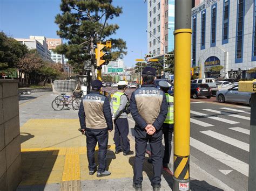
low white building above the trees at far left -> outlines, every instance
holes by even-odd
[[[36,49],[43,60],[51,61],[51,53],[48,50],[45,37],[30,36],[29,39],[15,38],[29,49]]]

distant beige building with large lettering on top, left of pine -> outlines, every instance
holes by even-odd
[[[51,60],[64,65],[64,55],[53,52],[53,49],[59,45],[62,45],[62,39],[46,38],[46,43],[48,44],[48,49],[51,53]]]

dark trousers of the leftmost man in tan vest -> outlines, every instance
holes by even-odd
[[[96,168],[95,164],[95,147],[98,142],[98,172],[104,172],[106,169],[106,153],[107,153],[107,142],[109,141],[109,133],[107,130],[102,131],[86,131],[86,147],[87,147],[87,159],[89,162],[89,171],[94,171]]]

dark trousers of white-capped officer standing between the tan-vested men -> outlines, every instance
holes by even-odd
[[[114,121],[114,144],[116,151],[121,150],[121,139],[123,142],[123,151],[127,153],[130,151],[130,142],[127,138],[129,134],[129,124],[127,118],[118,118]]]

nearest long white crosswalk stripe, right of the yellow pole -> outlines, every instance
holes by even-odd
[[[197,148],[197,150],[204,152],[215,160],[218,160],[223,164],[235,169],[236,171],[248,176],[249,165],[245,162],[238,160],[224,152],[221,152],[216,148],[199,142],[199,140],[193,139],[192,137],[190,138],[190,145],[194,148]]]

